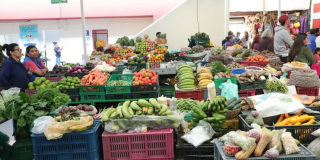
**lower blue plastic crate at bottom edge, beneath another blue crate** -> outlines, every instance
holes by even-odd
[[[35,160],[99,160],[99,150],[91,152],[69,152],[61,154],[34,155]]]

